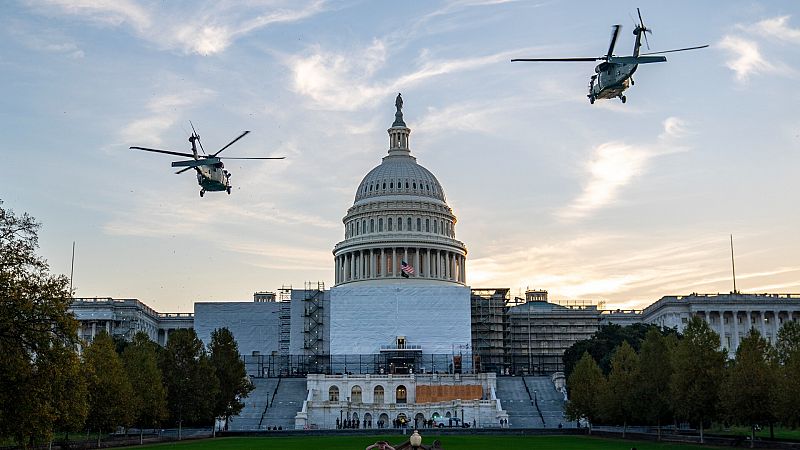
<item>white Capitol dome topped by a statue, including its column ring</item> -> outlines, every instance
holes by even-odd
[[[336,285],[401,278],[464,285],[467,249],[455,239],[456,216],[439,180],[411,156],[400,95],[395,106],[389,153],[361,180],[342,219],[344,240],[333,249]]]

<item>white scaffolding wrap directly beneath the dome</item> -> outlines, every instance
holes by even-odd
[[[336,286],[331,354],[373,354],[398,336],[425,354],[470,352],[470,289],[464,286]]]

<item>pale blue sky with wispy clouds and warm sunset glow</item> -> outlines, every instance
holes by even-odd
[[[592,63],[640,7],[627,103]],[[78,297],[160,312],[333,284],[333,246],[388,150],[410,147],[468,248],[467,284],[641,308],[664,295],[800,292],[800,3],[39,0],[0,2],[0,200],[41,223]],[[168,155],[190,121],[228,156],[198,195]]]

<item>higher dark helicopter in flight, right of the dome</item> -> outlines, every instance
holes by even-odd
[[[639,23],[633,30],[636,35],[636,42],[633,44],[633,55],[631,56],[614,56],[614,46],[617,43],[619,30],[622,25],[614,25],[611,33],[611,44],[608,46],[608,52],[603,56],[596,58],[525,58],[525,59],[512,59],[511,62],[517,61],[535,61],[535,62],[575,62],[575,61],[602,61],[597,67],[594,68],[595,74],[589,80],[589,103],[594,104],[596,99],[611,99],[619,98],[622,103],[625,103],[625,90],[634,84],[633,73],[639,67],[639,64],[649,64],[666,62],[666,56],[663,53],[683,52],[686,50],[697,50],[706,48],[708,45],[699,45],[696,47],[678,48],[674,50],[664,50],[661,52],[639,53],[642,47],[642,36],[644,36],[645,45],[650,50],[650,43],[647,41],[647,33],[652,34],[650,28],[644,26],[642,20],[642,13],[639,8],[636,8],[639,14]],[[650,56],[658,55],[658,56]]]

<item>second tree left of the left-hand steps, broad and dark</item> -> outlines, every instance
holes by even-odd
[[[179,433],[184,423],[213,423],[219,381],[195,331],[183,329],[170,333],[161,355],[167,407]]]

